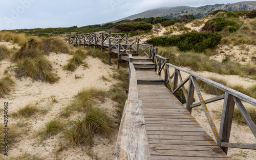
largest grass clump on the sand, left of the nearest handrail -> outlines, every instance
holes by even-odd
[[[108,136],[112,129],[113,121],[106,111],[93,107],[85,117],[77,120],[74,126],[66,131],[66,137],[73,144],[92,146],[94,135]]]

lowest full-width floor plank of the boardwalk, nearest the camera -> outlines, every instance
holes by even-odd
[[[195,157],[223,157],[227,158],[228,156],[223,151],[190,151],[190,150],[182,150],[177,152],[177,150],[150,150],[152,155],[169,155],[169,156],[195,156]]]

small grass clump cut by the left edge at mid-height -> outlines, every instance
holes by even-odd
[[[0,98],[5,94],[11,92],[14,88],[15,82],[10,75],[6,75],[0,79]]]

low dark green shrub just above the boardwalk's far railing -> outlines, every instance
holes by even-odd
[[[145,31],[149,32],[153,29],[153,25],[145,22],[129,22],[114,26],[111,30],[114,32],[134,32]]]

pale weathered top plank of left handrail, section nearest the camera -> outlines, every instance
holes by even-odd
[[[151,159],[142,101],[126,101],[118,132],[115,159]]]

